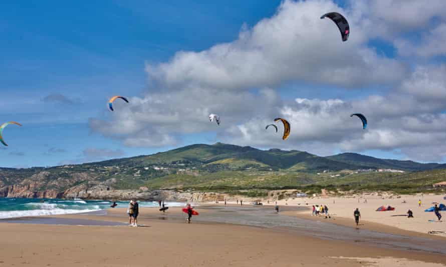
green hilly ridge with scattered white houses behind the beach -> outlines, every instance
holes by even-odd
[[[380,168],[399,170],[390,172]],[[380,159],[356,153],[327,157],[305,151],[260,150],[250,146],[193,144],[166,152],[50,168],[0,168],[0,193],[22,186],[61,192],[109,189],[176,188],[261,191],[301,188],[332,190],[431,190],[446,180],[446,165]],[[403,172],[402,172],[403,171]]]

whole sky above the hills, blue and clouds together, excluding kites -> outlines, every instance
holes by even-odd
[[[218,141],[446,162],[443,9],[443,0],[2,2],[0,122],[23,126],[4,130],[0,166]],[[320,19],[330,11],[349,21],[347,41]],[[117,99],[112,112],[114,95],[129,103]],[[275,117],[291,123],[285,141],[265,130]]]

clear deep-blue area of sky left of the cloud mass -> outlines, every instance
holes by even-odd
[[[10,146],[0,150],[2,166],[82,161],[89,147],[122,149],[126,156],[169,148],[122,147],[119,141],[92,134],[88,118],[108,112],[110,96],[143,90],[146,61],[232,40],[243,23],[271,16],[279,3],[3,2],[0,121],[20,121],[24,127],[5,130]],[[42,101],[53,93],[75,103]],[[200,142],[201,137],[185,136],[184,141]]]

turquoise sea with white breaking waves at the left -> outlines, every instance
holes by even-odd
[[[138,201],[140,207],[157,207],[156,201]],[[47,198],[0,198],[0,219],[28,216],[84,213],[110,208],[112,201]],[[116,207],[127,207],[128,201],[116,201]],[[166,206],[183,206],[181,202],[165,202]]]

